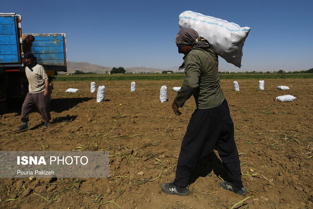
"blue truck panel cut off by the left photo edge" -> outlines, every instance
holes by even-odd
[[[0,64],[20,64],[19,35],[15,15],[0,16]]]

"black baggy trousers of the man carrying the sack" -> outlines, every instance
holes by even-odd
[[[174,184],[185,187],[198,161],[217,147],[232,181],[241,183],[241,169],[234,139],[234,124],[226,99],[211,109],[196,109],[182,140]]]

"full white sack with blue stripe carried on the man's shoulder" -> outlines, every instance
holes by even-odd
[[[184,11],[179,15],[179,27],[195,29],[200,36],[208,40],[215,53],[226,62],[241,67],[243,46],[250,27],[240,27],[238,24],[192,11]]]

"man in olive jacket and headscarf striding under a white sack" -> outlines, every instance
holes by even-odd
[[[209,49],[207,40],[192,28],[182,28],[176,36],[179,53],[183,53],[186,78],[174,99],[172,108],[181,115],[182,107],[194,95],[197,109],[192,114],[182,140],[173,183],[164,183],[167,194],[188,195],[190,176],[196,164],[217,147],[230,182],[222,181],[224,189],[246,195],[241,180],[241,168],[234,139],[234,124],[229,114],[225,95],[220,86],[218,55]]]

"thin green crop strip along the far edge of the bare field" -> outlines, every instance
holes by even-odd
[[[99,81],[99,80],[182,80],[185,75],[179,74],[136,74],[136,75],[58,75],[57,81]],[[313,78],[313,73],[220,73],[221,79],[275,79],[275,78]]]

